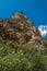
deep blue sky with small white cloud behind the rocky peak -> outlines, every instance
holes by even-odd
[[[0,0],[0,17],[22,11],[47,38],[47,0]]]

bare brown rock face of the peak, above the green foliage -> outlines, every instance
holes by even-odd
[[[0,36],[22,43],[42,43],[40,32],[22,12],[15,13],[9,20],[0,20]]]

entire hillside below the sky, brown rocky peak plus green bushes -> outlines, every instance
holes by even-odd
[[[22,12],[0,20],[0,71],[47,71],[47,40]]]

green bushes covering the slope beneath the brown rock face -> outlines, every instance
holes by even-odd
[[[0,71],[47,71],[47,55],[32,44],[0,38]]]

